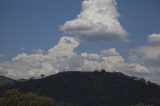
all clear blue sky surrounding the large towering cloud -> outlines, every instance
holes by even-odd
[[[0,53],[11,58],[25,48],[48,50],[63,36],[59,25],[77,16],[81,0],[0,0]],[[119,0],[121,24],[131,43],[84,42],[77,51],[116,47],[120,52],[145,44],[147,35],[160,32],[159,0]]]

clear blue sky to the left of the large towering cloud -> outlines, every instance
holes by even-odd
[[[47,50],[63,35],[59,25],[79,10],[75,0],[0,0],[0,53],[7,58],[22,47]]]

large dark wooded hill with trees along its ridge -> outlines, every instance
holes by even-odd
[[[1,94],[11,88],[37,92],[73,106],[160,106],[160,86],[117,72],[63,72],[0,88]]]

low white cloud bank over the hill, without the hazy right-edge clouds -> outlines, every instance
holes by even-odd
[[[119,69],[126,66],[125,59],[115,48],[98,53],[77,54],[74,50],[78,46],[79,41],[74,37],[63,36],[47,53],[38,49],[36,53],[21,53],[10,61],[1,62],[0,74],[19,79],[40,77],[41,74],[47,76],[62,71],[121,71]]]

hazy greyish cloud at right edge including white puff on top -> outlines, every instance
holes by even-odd
[[[132,49],[129,60],[147,66],[159,66],[160,63],[160,34],[150,34],[147,38],[149,44]]]

